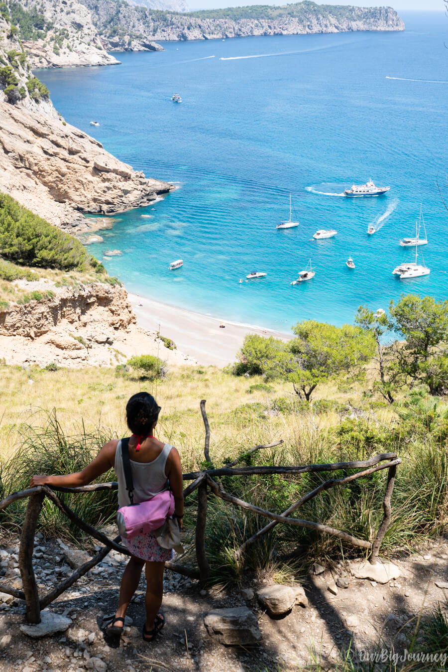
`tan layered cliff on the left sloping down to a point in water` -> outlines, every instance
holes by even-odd
[[[6,65],[2,65],[6,64]],[[146,205],[173,185],[146,179],[102,144],[66,124],[32,75],[11,25],[0,16],[0,191],[71,233],[82,212]]]

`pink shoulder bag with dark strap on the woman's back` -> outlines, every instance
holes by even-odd
[[[122,439],[122,460],[126,490],[130,505],[118,509],[118,532],[122,538],[132,539],[138,534],[154,532],[163,526],[174,513],[174,497],[171,490],[163,490],[148,501],[134,504],[134,483],[129,459],[129,439]]]

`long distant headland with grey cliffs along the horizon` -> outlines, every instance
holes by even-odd
[[[338,7],[304,1],[281,7],[255,5],[176,13],[133,7],[120,0],[81,1],[91,9],[93,22],[105,39],[111,26],[154,40],[404,30],[402,20],[392,7]]]

